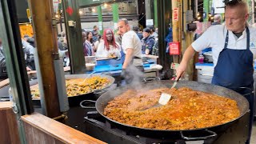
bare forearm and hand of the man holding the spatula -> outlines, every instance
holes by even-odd
[[[184,74],[187,64],[188,62],[190,62],[190,59],[194,57],[195,52],[196,51],[191,45],[186,49],[185,53],[183,54],[182,62],[180,63],[178,69],[176,70],[176,79],[180,78],[182,74]]]

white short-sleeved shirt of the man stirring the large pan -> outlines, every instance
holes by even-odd
[[[256,58],[256,28],[247,25],[250,31],[250,50]],[[212,48],[214,66],[218,62],[218,55],[224,49],[226,39],[226,26],[216,25],[210,26],[206,32],[202,34],[196,41],[192,43],[192,47],[196,51],[202,51],[208,47]],[[237,38],[232,31],[229,30],[228,49],[246,50],[246,29],[242,32],[242,36]]]

